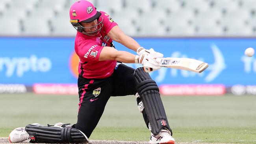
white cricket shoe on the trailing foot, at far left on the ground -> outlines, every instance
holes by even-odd
[[[32,124],[35,126],[41,126],[41,124]],[[9,142],[23,142],[24,140],[30,140],[29,134],[25,131],[25,127],[18,127],[11,131],[9,134]]]

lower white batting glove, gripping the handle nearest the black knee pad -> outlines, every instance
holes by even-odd
[[[140,63],[143,65],[143,69],[145,72],[154,72],[161,67],[159,66],[160,63],[156,61],[156,59],[150,57],[150,55],[136,55],[135,63]]]

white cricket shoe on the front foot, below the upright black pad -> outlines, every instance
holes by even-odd
[[[151,133],[149,144],[175,144],[175,140],[167,130],[162,129],[156,136]]]

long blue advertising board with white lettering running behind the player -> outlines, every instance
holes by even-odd
[[[137,38],[141,46],[165,57],[187,57],[209,63],[197,74],[161,68],[150,73],[158,84],[256,85],[256,59],[246,57],[252,38]],[[128,50],[115,42],[118,50]],[[135,54],[135,52],[132,52]],[[0,83],[77,83],[74,38],[0,38]],[[132,67],[140,65],[127,64]]]

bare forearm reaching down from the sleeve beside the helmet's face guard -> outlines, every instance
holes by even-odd
[[[119,28],[119,26],[114,26],[109,32],[108,36],[118,43],[130,48],[137,52],[137,49],[141,47],[138,42],[136,42],[133,38],[129,37],[128,35],[124,34],[124,32]]]

